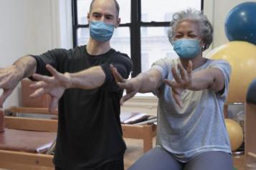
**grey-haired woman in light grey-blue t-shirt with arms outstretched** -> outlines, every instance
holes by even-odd
[[[121,104],[137,92],[158,96],[156,147],[130,169],[231,170],[223,116],[231,68],[226,61],[202,57],[212,43],[213,30],[200,11],[180,11],[170,25],[169,40],[179,59],[160,59],[128,80],[111,68],[119,86],[126,89]]]

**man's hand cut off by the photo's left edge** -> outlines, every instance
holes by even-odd
[[[0,69],[0,89],[3,89],[0,96],[0,108],[3,107],[4,101],[11,95],[21,79],[22,73],[16,66]]]

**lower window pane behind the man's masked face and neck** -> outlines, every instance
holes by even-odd
[[[90,33],[88,28],[77,29],[77,45],[85,45],[89,40]],[[113,49],[128,54],[131,57],[130,29],[128,27],[118,27],[115,29],[110,44]]]

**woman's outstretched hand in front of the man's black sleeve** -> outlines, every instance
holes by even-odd
[[[113,65],[110,64],[110,70],[115,77],[115,81],[120,86],[120,88],[126,90],[125,96],[120,99],[120,105],[123,105],[125,101],[131,99],[136,93],[138,93],[141,87],[141,81],[136,78],[133,79],[123,79],[123,77],[118,73],[118,70],[115,69]]]

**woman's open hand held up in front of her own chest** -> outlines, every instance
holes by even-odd
[[[175,81],[171,81],[167,79],[164,80],[164,83],[171,87],[172,96],[174,97],[176,104],[178,104],[181,108],[183,103],[180,99],[180,95],[184,89],[189,89],[189,87],[191,86],[192,67],[193,67],[193,64],[191,61],[189,61],[189,65],[187,69],[184,69],[182,64],[178,64],[180,76],[177,73],[176,69],[172,68],[171,72],[174,76]]]

